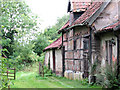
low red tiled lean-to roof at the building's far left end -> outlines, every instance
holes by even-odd
[[[49,46],[47,46],[43,51],[53,49],[53,48],[59,48],[61,44],[62,44],[62,36],[58,38],[56,41],[54,41],[53,43],[51,43]]]

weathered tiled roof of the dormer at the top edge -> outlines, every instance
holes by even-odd
[[[90,6],[91,0],[72,0],[73,12],[86,11],[86,9]]]

